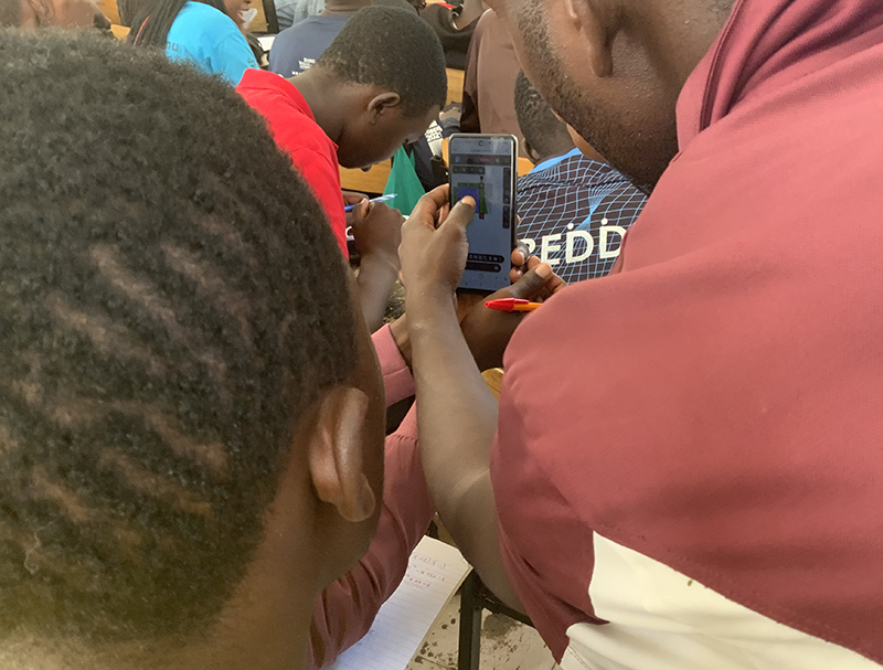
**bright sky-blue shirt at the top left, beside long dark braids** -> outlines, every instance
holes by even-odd
[[[187,2],[166,43],[172,61],[188,61],[206,74],[219,74],[233,86],[243,73],[257,67],[245,35],[224,12],[202,2]]]

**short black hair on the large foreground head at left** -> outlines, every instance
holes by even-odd
[[[0,640],[200,636],[357,369],[345,263],[232,87],[74,31],[0,63]]]

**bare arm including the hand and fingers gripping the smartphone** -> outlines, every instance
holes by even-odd
[[[500,556],[489,474],[497,403],[460,331],[454,300],[474,205],[458,203],[445,217],[447,198],[442,187],[421,200],[405,224],[401,248],[421,459],[438,514],[457,546],[497,597],[522,609]],[[541,265],[521,281],[542,287],[552,277],[552,269]]]

